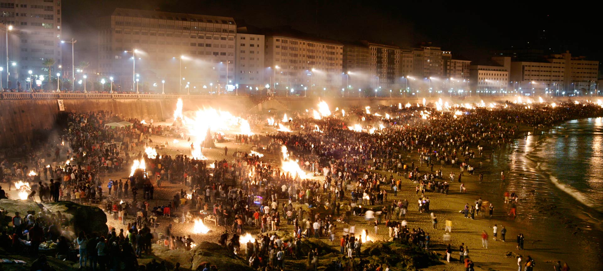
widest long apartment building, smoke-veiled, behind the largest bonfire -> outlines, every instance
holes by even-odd
[[[162,80],[172,91],[232,91],[235,39],[232,17],[117,8],[99,18],[98,70],[122,90],[139,79],[155,92]]]

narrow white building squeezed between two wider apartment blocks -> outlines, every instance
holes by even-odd
[[[238,85],[239,90],[264,89],[268,81],[265,80],[264,72],[264,35],[248,34],[245,27],[238,28],[236,33],[236,60],[235,76],[233,83]]]

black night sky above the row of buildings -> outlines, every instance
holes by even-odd
[[[528,1],[217,1],[217,0],[63,0],[63,37],[78,40],[76,54],[95,63],[96,20],[114,8],[196,13],[234,17],[259,27],[289,25],[306,33],[342,42],[414,46],[432,42],[453,57],[485,60],[491,49],[551,48],[602,60],[598,13],[587,5]],[[578,2],[572,2],[578,3]],[[81,42],[81,43],[80,43]],[[78,56],[77,56],[78,57]]]

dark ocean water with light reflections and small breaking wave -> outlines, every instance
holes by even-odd
[[[484,156],[484,168],[476,170],[484,172],[478,193],[494,204],[504,223],[551,252],[543,260],[602,270],[602,118],[570,120]],[[504,204],[505,191],[519,196],[517,204]],[[516,208],[516,217],[508,216],[511,208]]]

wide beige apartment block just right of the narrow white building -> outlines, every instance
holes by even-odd
[[[339,91],[344,78],[343,43],[299,34],[265,34],[265,73],[276,92]],[[276,82],[276,84],[274,84]],[[302,86],[303,85],[303,86]]]

